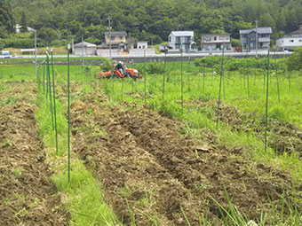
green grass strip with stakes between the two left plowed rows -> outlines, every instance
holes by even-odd
[[[40,72],[39,72],[40,73]],[[59,135],[59,155],[55,154],[55,134],[52,129],[52,116],[49,101],[40,85],[36,121],[47,147],[48,161],[52,162],[52,181],[57,191],[66,196],[66,207],[70,213],[70,225],[118,225],[112,209],[103,199],[101,185],[85,169],[83,161],[71,155],[70,182],[68,182],[67,150],[68,150],[68,121],[65,117],[65,107],[60,100],[56,101],[57,124]],[[72,151],[72,150],[71,150]]]

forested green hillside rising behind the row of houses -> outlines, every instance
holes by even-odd
[[[7,0],[0,0],[5,2]],[[139,40],[161,43],[171,30],[200,34],[226,32],[239,37],[239,29],[273,28],[273,38],[302,24],[302,0],[10,0],[15,23],[39,30],[47,42],[83,34],[100,43],[107,29],[126,30]],[[1,5],[1,4],[0,4]],[[1,11],[1,10],[0,10]],[[0,25],[3,23],[0,17]]]

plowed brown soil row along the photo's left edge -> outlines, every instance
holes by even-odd
[[[67,225],[68,214],[48,179],[36,105],[29,99],[33,87],[35,83],[11,83],[11,89],[1,93],[17,101],[0,107],[0,224]]]

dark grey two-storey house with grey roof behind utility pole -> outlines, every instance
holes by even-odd
[[[272,27],[255,27],[251,30],[240,30],[240,43],[243,51],[268,50],[273,34]]]

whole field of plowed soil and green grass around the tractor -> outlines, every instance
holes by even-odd
[[[1,65],[0,219],[302,225],[302,74],[278,60]]]

